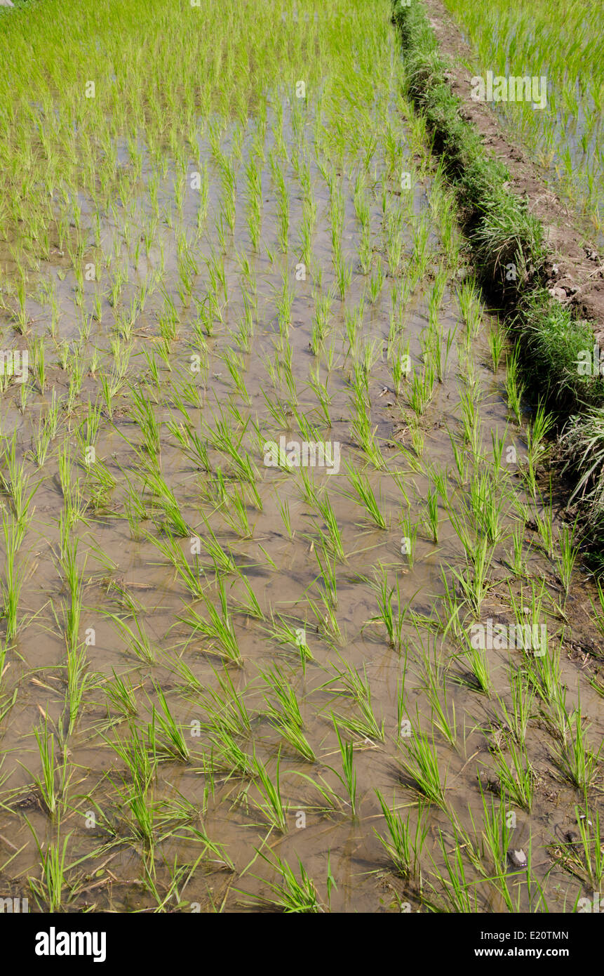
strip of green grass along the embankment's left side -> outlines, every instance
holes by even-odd
[[[485,293],[503,305],[520,349],[526,390],[542,401],[561,430],[565,468],[576,483],[585,542],[604,542],[604,382],[582,364],[594,346],[593,325],[574,317],[545,287],[547,246],[542,224],[508,188],[501,160],[490,156],[463,102],[447,80],[447,64],[420,3],[392,0],[406,62],[408,93],[422,113],[434,151],[454,183],[463,229]]]

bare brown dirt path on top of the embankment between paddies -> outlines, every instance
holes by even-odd
[[[541,221],[552,251],[546,267],[550,289],[562,303],[595,323],[596,340],[604,345],[604,257],[598,254],[572,205],[546,185],[543,170],[503,127],[486,102],[469,97],[470,73],[461,61],[469,61],[471,49],[462,32],[439,0],[423,0],[430,25],[443,55],[451,62],[449,82],[463,101],[463,117],[471,121],[485,144],[501,158],[511,177],[511,188],[528,200],[531,213]]]

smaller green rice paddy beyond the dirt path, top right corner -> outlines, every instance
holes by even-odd
[[[597,229],[604,207],[604,39],[602,7],[589,0],[514,0],[486,6],[443,0],[482,74],[546,78],[547,102],[494,103],[510,131],[532,150],[558,190]]]

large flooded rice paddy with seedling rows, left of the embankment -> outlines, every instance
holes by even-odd
[[[0,16],[0,897],[32,912],[601,891],[604,590],[390,17]]]

